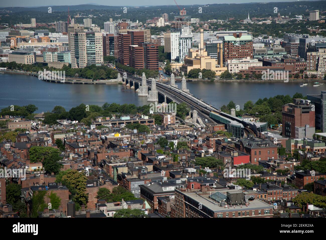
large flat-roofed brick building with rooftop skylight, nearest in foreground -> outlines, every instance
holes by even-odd
[[[207,186],[201,186],[200,191],[176,188],[173,208],[171,217],[273,217],[271,204],[248,200],[238,189],[214,191]]]

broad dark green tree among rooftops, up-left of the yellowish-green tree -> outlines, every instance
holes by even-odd
[[[29,159],[31,163],[41,162],[46,173],[54,172],[57,174],[62,168],[62,164],[59,161],[61,152],[59,149],[52,147],[33,146],[29,149]]]

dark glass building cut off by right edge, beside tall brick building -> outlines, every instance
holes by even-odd
[[[321,91],[321,94],[307,95],[307,99],[315,106],[316,129],[326,132],[326,91]]]

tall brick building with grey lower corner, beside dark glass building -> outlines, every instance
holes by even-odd
[[[294,99],[282,106],[282,135],[312,138],[315,133],[315,106],[310,100]]]

